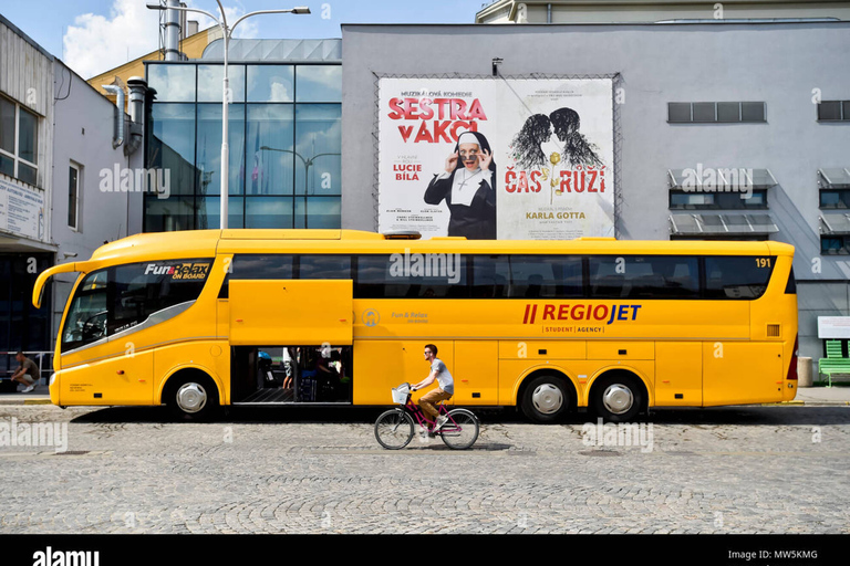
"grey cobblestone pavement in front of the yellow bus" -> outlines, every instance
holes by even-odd
[[[850,533],[848,408],[660,411],[630,429],[641,446],[623,446],[622,427],[610,446],[612,426],[592,446],[584,415],[538,426],[480,411],[467,451],[418,438],[383,450],[379,412],[190,423],[1,407],[0,470],[30,481],[0,491],[0,533]],[[35,422],[66,423],[66,451],[20,446]]]

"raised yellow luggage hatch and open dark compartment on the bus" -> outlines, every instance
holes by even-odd
[[[352,292],[351,280],[230,281],[234,402],[351,402]]]

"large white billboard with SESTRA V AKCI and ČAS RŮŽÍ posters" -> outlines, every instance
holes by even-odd
[[[614,235],[611,78],[382,77],[379,230]]]

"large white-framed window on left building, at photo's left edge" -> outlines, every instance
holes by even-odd
[[[38,186],[39,116],[0,96],[0,172]]]

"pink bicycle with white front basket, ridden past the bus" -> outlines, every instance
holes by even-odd
[[[413,417],[419,427],[431,422],[423,415],[422,409],[411,401],[411,384],[402,384],[393,388],[393,402],[402,405],[395,409],[383,412],[375,421],[375,438],[377,442],[388,450],[400,450],[413,440]],[[446,409],[439,403],[439,413],[448,420],[439,430],[433,431],[439,436],[448,448],[465,450],[471,447],[478,439],[478,418],[467,409]]]

